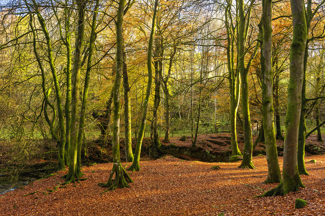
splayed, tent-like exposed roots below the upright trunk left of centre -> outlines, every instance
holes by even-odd
[[[113,174],[115,173],[115,179],[112,180]],[[116,188],[124,188],[129,187],[128,183],[133,182],[129,174],[123,168],[121,162],[118,164],[113,165],[112,170],[110,171],[110,178],[108,179],[107,183],[98,183],[98,186],[108,187],[103,193],[114,190]],[[103,194],[101,193],[101,194]]]

